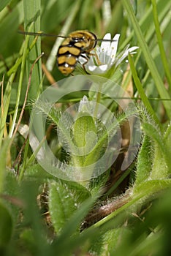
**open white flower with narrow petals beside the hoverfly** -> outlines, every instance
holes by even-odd
[[[121,61],[126,59],[129,53],[136,53],[134,50],[137,50],[137,46],[129,48],[129,45],[127,45],[127,47],[117,56],[116,52],[119,37],[120,34],[115,34],[115,37],[111,40],[111,34],[105,34],[103,38],[104,41],[102,41],[101,46],[96,46],[96,49],[91,52],[93,55],[90,56],[88,63],[85,64],[85,68],[88,73],[96,75],[104,74],[110,69],[110,67],[118,67],[118,65],[121,64]]]

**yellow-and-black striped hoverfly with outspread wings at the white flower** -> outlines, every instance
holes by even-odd
[[[94,55],[91,53],[91,50],[94,50],[98,41],[111,41],[109,39],[98,39],[94,33],[87,30],[73,31],[67,37],[34,32],[20,33],[64,38],[64,42],[62,42],[62,44],[59,46],[58,52],[56,54],[57,66],[63,75],[69,75],[75,70],[80,56],[86,59],[86,62],[83,64],[84,67],[84,65],[88,62],[89,56]]]

